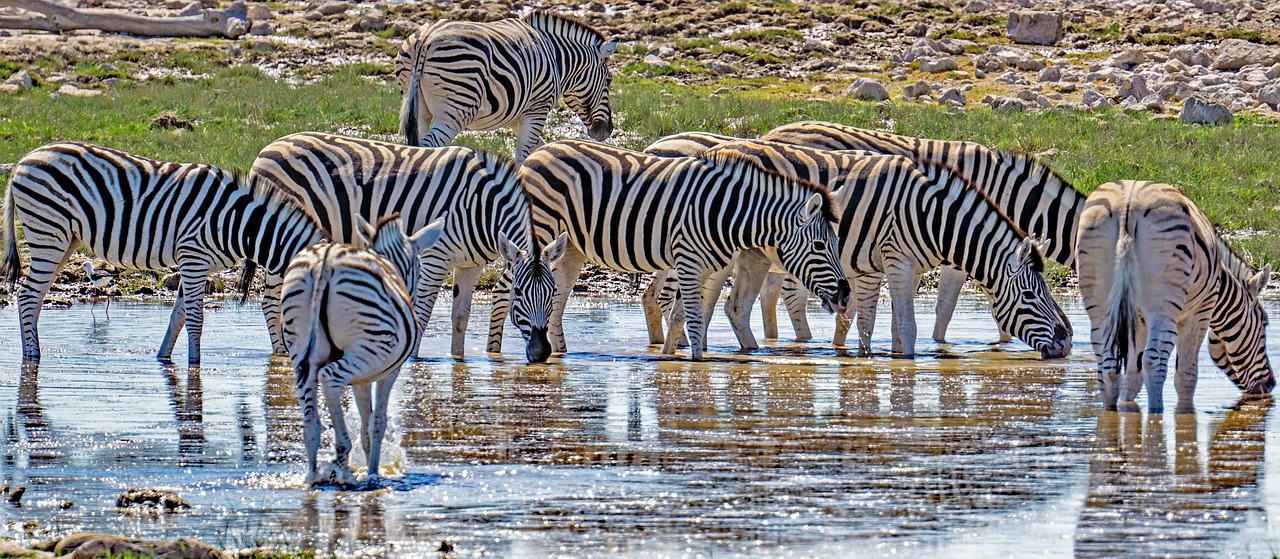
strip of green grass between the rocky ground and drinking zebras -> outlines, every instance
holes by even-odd
[[[291,86],[251,67],[212,67],[212,79],[143,83],[97,97],[51,98],[54,88],[46,86],[0,104],[0,161],[17,161],[52,141],[82,139],[165,160],[244,169],[262,146],[293,132],[356,129],[362,136],[393,136],[399,95],[380,75],[383,70],[351,67],[311,84]],[[623,74],[614,79],[612,98],[618,127],[627,132],[622,143],[631,148],[677,132],[755,136],[803,119],[891,125],[901,134],[1032,154],[1056,148],[1059,154],[1048,162],[1085,192],[1115,179],[1184,185],[1225,229],[1258,232],[1236,242],[1243,251],[1280,265],[1280,142],[1274,139],[1274,122],[1240,115],[1228,127],[1189,127],[1176,120],[1148,122],[1142,114],[1004,114],[914,104],[877,107],[809,100],[812,86],[777,78],[686,86]],[[731,91],[713,96],[721,87]],[[164,111],[197,124],[193,130],[151,128]],[[468,136],[460,143],[500,148],[508,136]]]

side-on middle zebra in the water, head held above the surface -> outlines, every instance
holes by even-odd
[[[773,247],[783,266],[844,312],[849,281],[832,229],[838,207],[822,185],[754,160],[657,157],[586,141],[535,151],[520,170],[539,238],[568,233],[556,265],[552,344],[564,350],[562,315],[586,258],[627,272],[676,270],[694,359],[703,354],[704,275],[737,251]],[[672,331],[678,331],[672,324]],[[675,336],[673,336],[675,338]],[[668,344],[666,353],[675,350]]]

